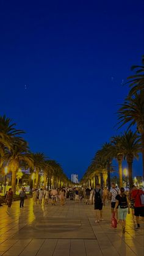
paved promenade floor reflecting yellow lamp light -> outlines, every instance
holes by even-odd
[[[64,207],[34,205],[0,208],[0,255],[5,256],[101,256],[143,255],[142,230],[134,231],[128,215],[126,233],[110,227],[110,205],[104,207],[104,221],[95,224],[93,205],[67,200]]]

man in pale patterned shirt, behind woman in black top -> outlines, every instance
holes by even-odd
[[[116,199],[115,197],[119,194],[120,189],[116,188],[115,183],[112,183],[112,188],[110,188],[110,193],[109,193],[109,199],[111,200],[111,212],[113,214],[113,210],[115,208],[115,203],[116,203]],[[118,206],[116,209],[116,219],[118,222]]]

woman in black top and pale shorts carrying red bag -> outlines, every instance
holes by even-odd
[[[113,210],[113,213],[117,211],[118,207],[118,218],[121,222],[123,233],[126,232],[126,216],[128,213],[130,213],[130,207],[129,207],[129,200],[128,196],[126,196],[124,188],[120,189],[120,194],[118,194],[116,197],[116,203],[115,208]]]

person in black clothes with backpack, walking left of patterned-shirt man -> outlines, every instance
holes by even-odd
[[[96,210],[96,223],[103,221],[103,190],[100,188],[100,184],[96,184],[96,188],[93,191],[94,193],[94,205]]]

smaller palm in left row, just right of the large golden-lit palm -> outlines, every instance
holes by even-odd
[[[41,169],[45,169],[46,167],[46,160],[48,159],[47,156],[45,156],[44,153],[31,153],[31,157],[34,161],[34,167],[36,170],[36,187],[38,187],[38,181],[39,181],[39,173]]]

